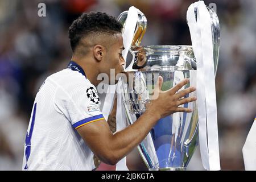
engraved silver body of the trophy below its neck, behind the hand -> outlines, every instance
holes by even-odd
[[[196,71],[137,71],[130,72],[133,79],[123,82],[123,105],[126,118],[134,123],[147,109],[158,76],[163,77],[162,90],[168,90],[183,78],[195,82]],[[193,74],[192,74],[193,73]],[[190,83],[184,86],[185,89]],[[191,93],[195,96],[195,93]],[[192,97],[191,94],[185,97]],[[168,103],[166,103],[168,104]],[[174,113],[160,119],[138,149],[150,170],[183,170],[187,167],[198,140],[196,102],[181,105],[193,113]]]

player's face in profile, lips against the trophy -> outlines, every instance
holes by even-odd
[[[110,69],[115,70],[115,76],[117,76],[118,73],[123,73],[123,65],[125,65],[125,60],[122,56],[122,51],[124,49],[123,47],[123,38],[122,34],[115,34],[115,42],[112,44],[112,46],[109,47],[108,53],[107,53],[107,61],[105,62],[107,65],[105,65],[106,70],[105,73],[108,74],[110,78]],[[114,79],[115,78],[111,78]],[[118,82],[118,80],[115,80],[115,84]],[[109,84],[111,84],[109,79]]]

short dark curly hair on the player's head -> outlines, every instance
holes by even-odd
[[[75,52],[80,40],[91,33],[116,34],[122,31],[122,24],[113,16],[102,12],[83,13],[69,27],[69,40]]]

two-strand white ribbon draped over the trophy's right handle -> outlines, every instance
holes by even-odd
[[[220,170],[212,31],[210,15],[203,1],[189,6],[187,20],[197,60],[197,108],[201,158],[205,169]]]

